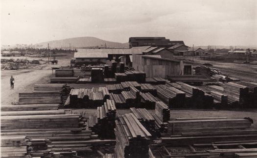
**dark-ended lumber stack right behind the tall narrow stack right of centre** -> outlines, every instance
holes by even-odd
[[[168,104],[169,108],[185,108],[186,93],[174,87],[155,86],[157,96]]]

